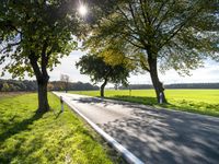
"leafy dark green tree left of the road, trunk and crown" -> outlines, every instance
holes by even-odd
[[[2,0],[0,4],[0,63],[13,78],[27,72],[38,85],[38,109],[49,109],[47,69],[76,48],[81,31],[77,2],[71,0]]]

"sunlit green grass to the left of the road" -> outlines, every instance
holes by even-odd
[[[0,163],[110,164],[112,151],[67,106],[49,94],[53,110],[36,115],[36,94],[0,98]],[[101,141],[103,143],[103,141]],[[105,143],[104,143],[105,144]]]

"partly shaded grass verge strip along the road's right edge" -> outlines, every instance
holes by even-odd
[[[155,97],[115,95],[110,98],[219,117],[219,104],[180,99],[175,104],[169,102],[161,105]]]

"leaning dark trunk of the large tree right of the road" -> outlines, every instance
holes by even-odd
[[[149,63],[149,68],[150,68],[149,72],[150,72],[153,87],[155,90],[158,103],[166,103],[163,84],[160,82],[158,78],[157,55],[152,55],[149,52],[148,63]]]

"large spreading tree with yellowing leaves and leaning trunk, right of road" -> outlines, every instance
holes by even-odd
[[[188,74],[204,59],[218,59],[217,0],[106,0],[99,4],[101,11],[87,42],[90,48],[110,44],[132,49],[135,59],[150,73],[158,102],[160,94],[166,102],[158,67]]]

